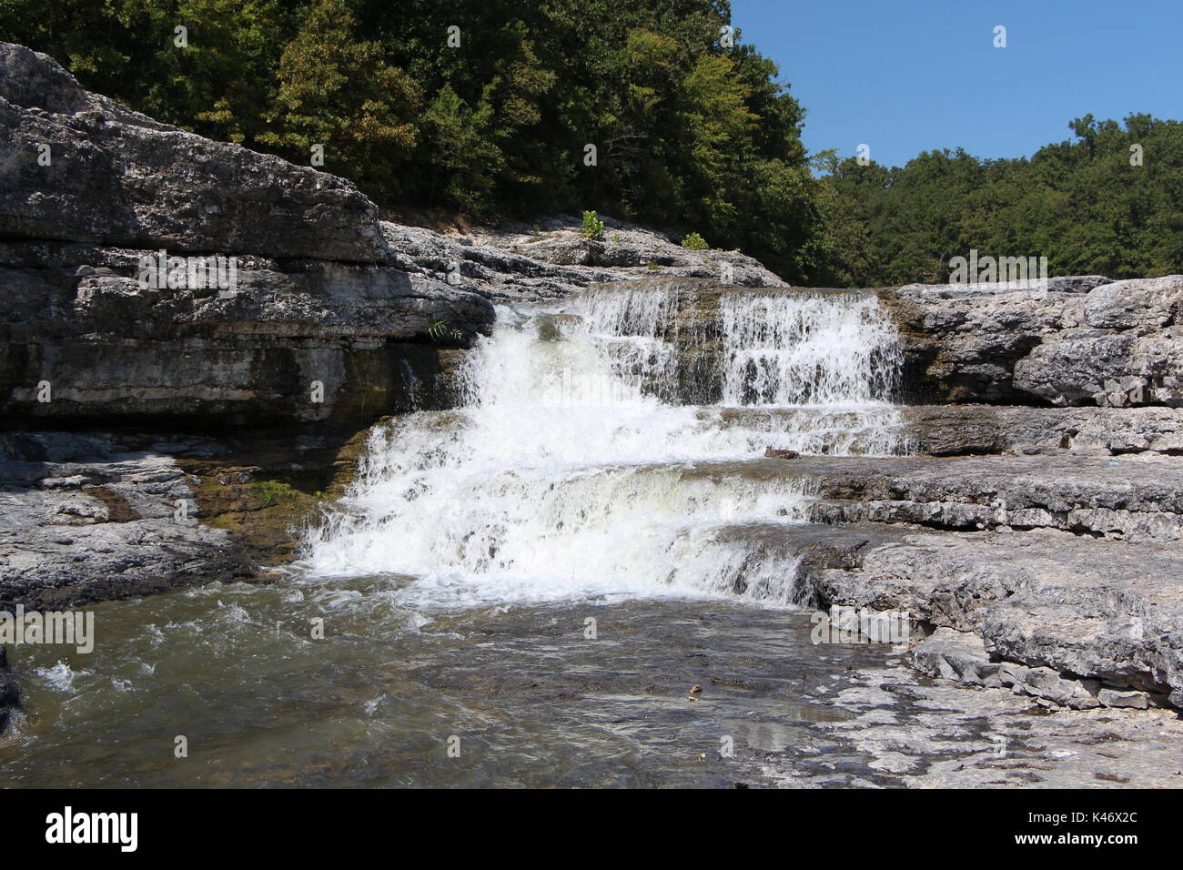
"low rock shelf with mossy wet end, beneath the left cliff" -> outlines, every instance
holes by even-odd
[[[0,434],[0,602],[254,578],[295,556],[299,529],[342,495],[367,434]]]

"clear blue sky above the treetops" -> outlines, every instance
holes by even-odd
[[[780,64],[810,152],[1017,157],[1088,112],[1183,118],[1183,0],[732,0],[731,21]]]

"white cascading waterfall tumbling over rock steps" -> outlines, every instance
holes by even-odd
[[[898,362],[868,294],[671,285],[500,309],[466,406],[376,427],[305,565],[403,575],[426,605],[789,604],[796,558],[746,531],[806,522],[810,483],[758,457],[897,451]]]

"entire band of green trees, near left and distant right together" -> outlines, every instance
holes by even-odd
[[[595,210],[796,283],[942,279],[971,247],[1053,275],[1183,271],[1179,123],[1090,116],[1030,160],[810,161],[802,108],[729,21],[726,0],[0,0],[0,39],[89,89],[296,162],[323,146],[383,205]]]

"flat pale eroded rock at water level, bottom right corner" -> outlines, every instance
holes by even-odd
[[[875,785],[910,788],[1179,788],[1175,710],[1053,708],[1007,688],[968,690],[897,664],[858,669],[833,703],[854,715],[822,726],[873,756]],[[813,747],[765,763],[787,787],[833,785],[786,769]],[[851,781],[842,785],[872,785]]]

